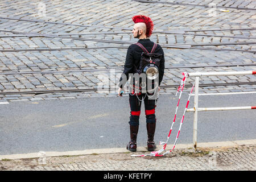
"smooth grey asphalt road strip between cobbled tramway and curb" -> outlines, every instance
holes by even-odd
[[[188,94],[181,97],[174,143]],[[160,95],[156,107],[155,142],[166,141],[178,96]],[[255,106],[256,94],[199,96],[199,107]],[[193,107],[193,96],[188,106]],[[0,155],[38,151],[73,151],[126,147],[129,142],[128,97],[22,101],[0,105]],[[256,138],[256,110],[199,112],[197,142]],[[186,113],[177,143],[192,143],[193,113]],[[138,146],[146,146],[142,105]]]

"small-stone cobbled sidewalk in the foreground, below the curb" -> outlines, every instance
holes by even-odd
[[[4,171],[255,171],[255,145],[174,150],[164,157],[131,157],[131,152],[31,159],[2,159]],[[148,152],[137,152],[148,154]]]

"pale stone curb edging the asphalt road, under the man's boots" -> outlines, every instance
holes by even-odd
[[[236,140],[236,141],[227,141],[227,142],[204,142],[197,143],[197,147],[234,147],[242,145],[255,145],[256,139],[251,140]],[[162,146],[157,146],[159,150]],[[173,146],[167,145],[167,150],[171,150]],[[189,144],[177,144],[175,149],[185,149],[192,148],[192,143]],[[46,152],[46,157],[53,156],[63,156],[63,155],[89,155],[89,154],[113,154],[113,153],[122,153],[127,152],[126,148],[99,148],[99,149],[88,149],[82,151],[48,151]],[[137,147],[137,152],[148,152],[146,147]],[[27,153],[27,154],[11,154],[11,155],[0,155],[0,160],[2,159],[28,159],[28,158],[39,158],[39,152]]]

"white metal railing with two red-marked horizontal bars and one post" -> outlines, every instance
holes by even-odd
[[[212,110],[241,110],[241,109],[256,109],[256,106],[243,106],[243,107],[198,107],[198,96],[199,96],[199,77],[200,76],[229,76],[229,75],[256,75],[256,71],[242,71],[242,72],[195,72],[188,73],[188,75],[195,76],[195,98],[194,107],[187,109],[187,112],[194,112],[193,118],[193,151],[196,150],[197,143],[197,112],[198,111],[212,111]],[[232,94],[232,93],[230,93]]]

